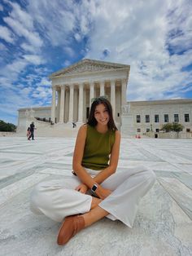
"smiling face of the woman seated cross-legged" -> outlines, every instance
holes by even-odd
[[[94,110],[94,118],[98,121],[99,125],[107,126],[109,121],[109,113],[104,104],[98,104]]]

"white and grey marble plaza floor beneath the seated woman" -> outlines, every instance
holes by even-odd
[[[122,139],[117,171],[143,165],[157,181],[133,228],[107,218],[56,244],[59,223],[29,210],[33,185],[71,175],[75,139],[0,138],[0,255],[192,255],[192,140]]]

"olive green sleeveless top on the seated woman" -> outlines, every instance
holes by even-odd
[[[87,125],[82,166],[92,170],[107,168],[115,135],[115,131],[107,130],[102,134],[96,130],[96,127]]]

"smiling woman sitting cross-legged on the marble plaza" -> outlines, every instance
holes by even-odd
[[[116,173],[120,132],[110,102],[94,99],[89,120],[80,127],[73,154],[72,177],[46,181],[34,188],[31,209],[55,221],[64,221],[58,244],[107,216],[133,226],[137,205],[155,183],[155,174],[143,167]]]

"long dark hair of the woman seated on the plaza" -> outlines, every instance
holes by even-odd
[[[116,128],[115,121],[113,119],[111,103],[108,101],[108,99],[106,99],[103,96],[95,98],[93,103],[91,104],[90,112],[89,112],[89,118],[88,118],[87,124],[89,126],[97,126],[98,121],[94,118],[94,112],[95,112],[95,108],[99,104],[103,104],[107,108],[107,112],[109,114],[109,121],[107,122],[108,129],[109,130],[114,130],[114,131],[118,130]]]

